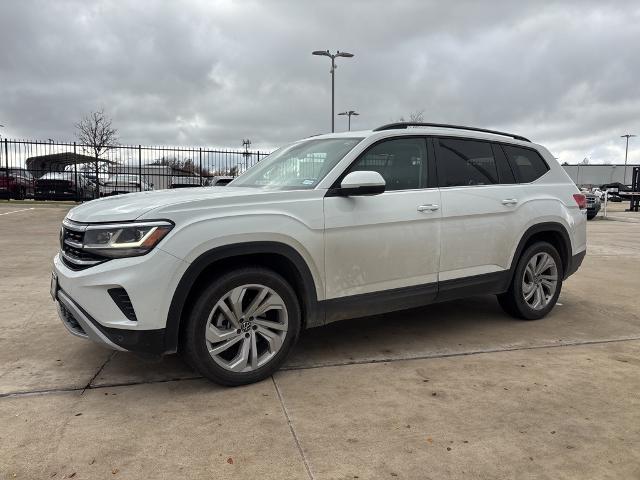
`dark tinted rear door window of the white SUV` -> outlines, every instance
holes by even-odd
[[[490,143],[455,138],[440,138],[438,143],[441,186],[498,183],[498,170]]]

